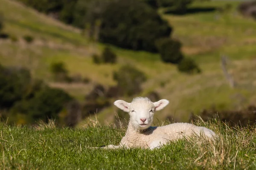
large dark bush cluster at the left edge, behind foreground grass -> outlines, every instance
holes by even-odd
[[[58,119],[57,114],[71,99],[64,91],[32,79],[25,68],[0,65],[0,109],[8,111],[11,122],[18,122],[18,115],[26,117],[25,123]]]

